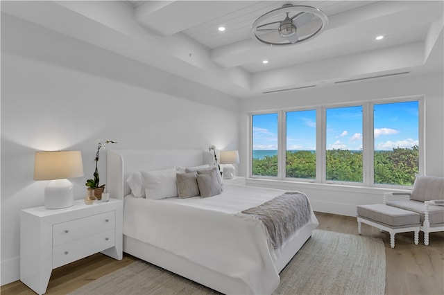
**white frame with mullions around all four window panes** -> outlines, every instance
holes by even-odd
[[[406,189],[409,186],[397,184],[375,184],[374,166],[374,105],[390,104],[395,102],[418,101],[418,145],[419,145],[419,173],[425,171],[425,98],[424,96],[404,96],[400,98],[382,98],[377,100],[352,101],[347,103],[332,103],[330,105],[310,105],[305,107],[292,107],[273,109],[268,111],[253,111],[248,113],[248,161],[247,175],[252,179],[269,179],[275,181],[304,182],[314,184],[338,184],[343,186],[359,186],[370,188]],[[327,181],[326,155],[327,155],[327,118],[326,110],[339,107],[362,107],[362,182]],[[291,111],[316,110],[316,179],[301,179],[286,177],[287,152],[287,122],[286,114]],[[278,114],[278,176],[268,177],[253,175],[253,116],[259,114]]]

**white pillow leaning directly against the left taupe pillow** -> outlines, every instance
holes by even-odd
[[[176,170],[142,171],[146,199],[178,197]]]

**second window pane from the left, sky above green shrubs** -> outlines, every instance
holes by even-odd
[[[316,179],[316,110],[286,114],[286,177]]]

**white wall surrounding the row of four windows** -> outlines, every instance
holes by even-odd
[[[269,109],[331,105],[339,102],[377,100],[406,96],[425,98],[425,174],[444,177],[444,98],[443,73],[405,75],[373,79],[330,87],[318,87],[274,93],[241,101],[241,138],[248,137],[248,113]],[[239,157],[246,159],[247,141],[240,141]],[[246,171],[246,161],[241,162]],[[247,179],[247,184],[286,190],[302,190],[311,199],[315,211],[356,215],[359,204],[382,202],[381,188],[359,188],[333,184],[307,184],[291,181]]]

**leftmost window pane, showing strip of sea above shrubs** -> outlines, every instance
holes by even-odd
[[[252,175],[278,176],[278,114],[252,116]]]

